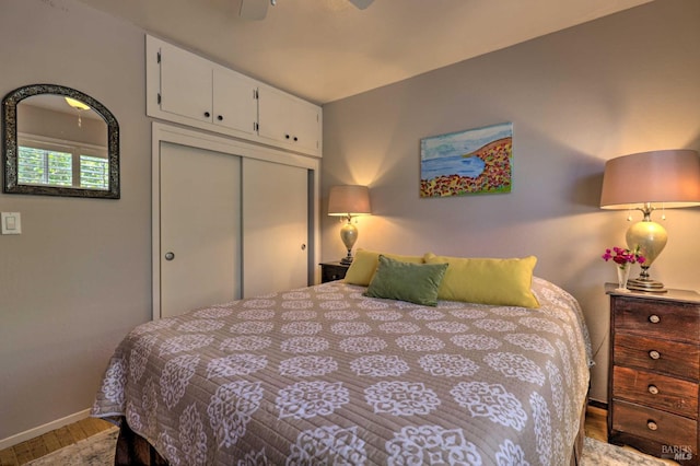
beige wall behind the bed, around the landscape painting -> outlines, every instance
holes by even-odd
[[[336,184],[366,184],[375,215],[359,247],[524,256],[579,299],[607,399],[608,304],[600,259],[622,245],[626,212],[598,209],[605,161],[655,149],[700,149],[700,2],[656,0],[324,107],[322,210]],[[420,138],[513,123],[513,191],[420,199]],[[643,180],[640,180],[643,183]],[[666,212],[669,244],[652,275],[700,289],[700,209]],[[639,213],[637,219],[641,219]],[[325,260],[343,256],[323,219]]]

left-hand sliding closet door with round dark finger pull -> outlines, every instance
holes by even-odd
[[[241,158],[161,142],[161,317],[241,298]]]

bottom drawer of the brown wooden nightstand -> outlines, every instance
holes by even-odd
[[[611,429],[663,445],[690,445],[698,454],[698,422],[669,412],[614,399]]]

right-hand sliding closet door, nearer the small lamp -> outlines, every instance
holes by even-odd
[[[243,298],[308,284],[308,171],[243,159]]]

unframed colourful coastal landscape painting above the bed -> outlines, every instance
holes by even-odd
[[[420,197],[510,193],[512,159],[512,123],[421,139]]]

